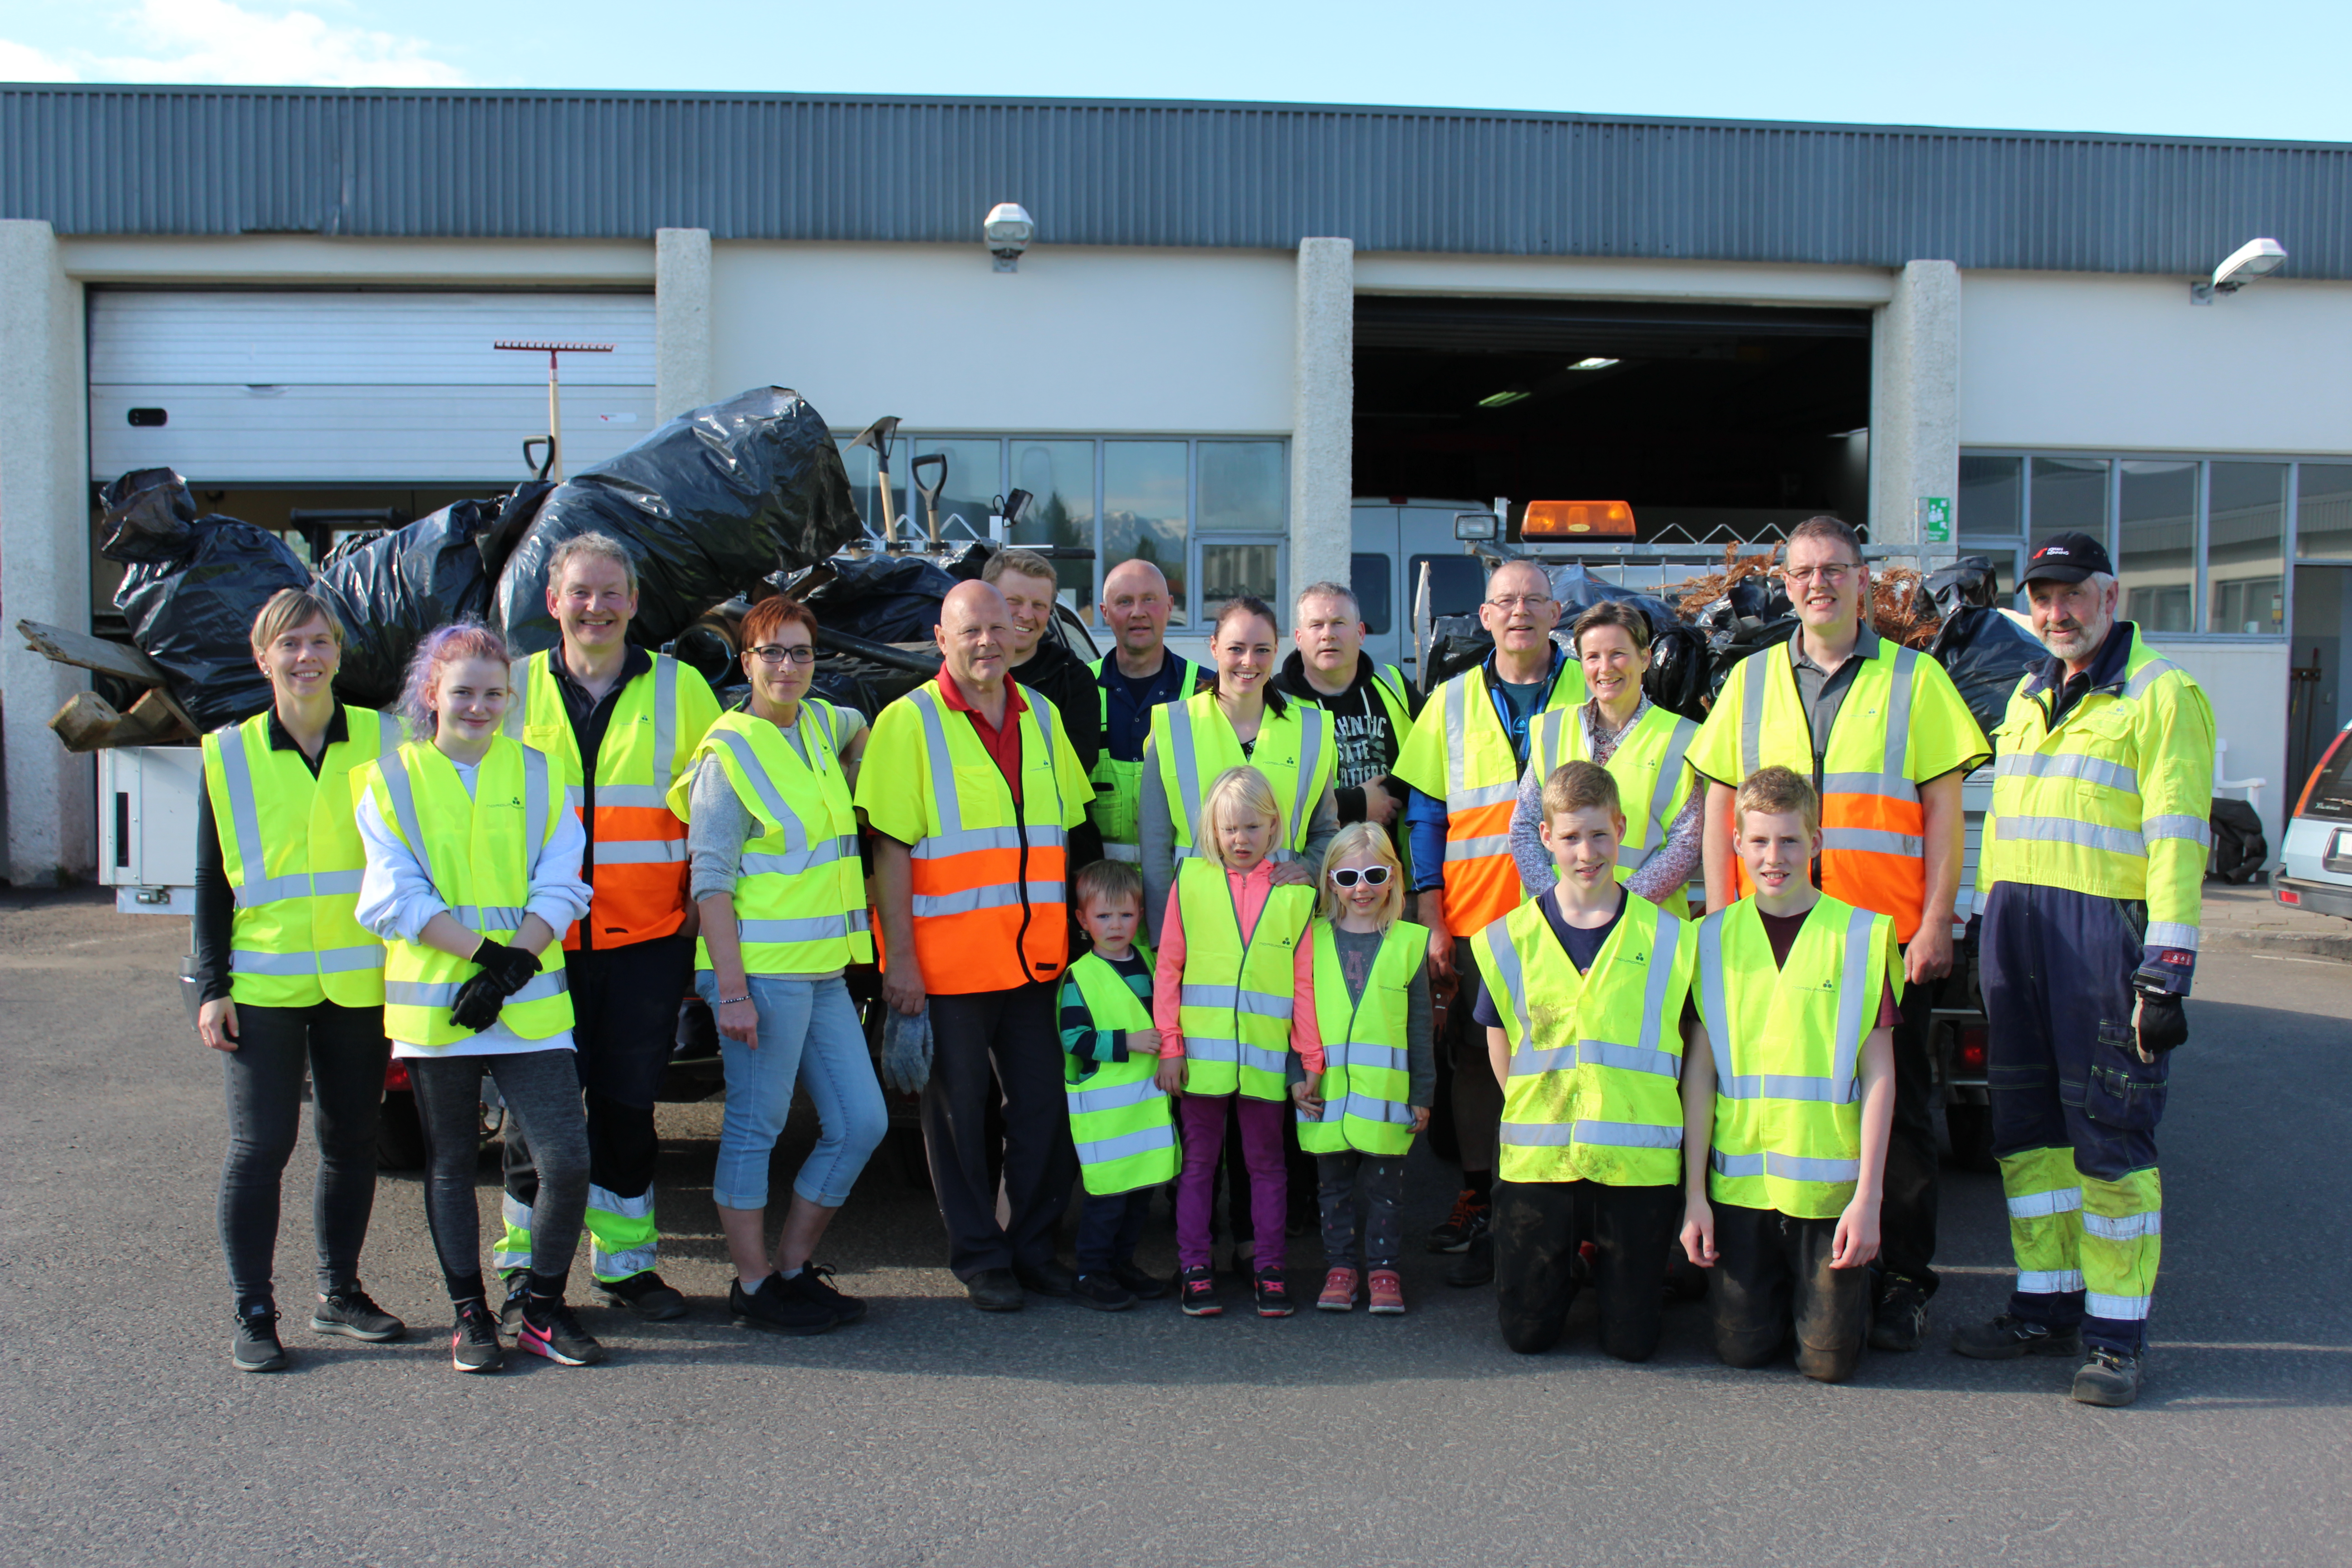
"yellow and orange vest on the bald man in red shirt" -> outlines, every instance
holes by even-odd
[[[866,743],[868,769],[917,769],[929,785],[931,832],[910,851],[910,893],[915,961],[934,994],[1051,980],[1068,959],[1058,719],[1037,691],[1018,691],[1025,705],[1018,804],[971,724],[962,715],[950,724],[938,679],[898,698],[915,715],[920,743],[898,719],[877,722],[875,741]],[[983,820],[967,827],[969,818]]]

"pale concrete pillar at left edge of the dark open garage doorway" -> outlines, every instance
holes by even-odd
[[[1291,581],[1348,581],[1355,501],[1355,240],[1298,242],[1291,346]],[[1289,616],[1289,607],[1282,607]]]

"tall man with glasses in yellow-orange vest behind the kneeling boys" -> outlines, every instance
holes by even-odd
[[[1985,731],[1952,677],[1926,654],[1870,630],[1870,569],[1851,527],[1809,517],[1790,529],[1783,569],[1797,635],[1733,665],[1689,764],[1708,780],[1703,863],[1708,907],[1748,893],[1733,853],[1740,783],[1766,766],[1813,780],[1830,898],[1896,922],[1903,1023],[1896,1025],[1896,1121],[1875,1281],[1877,1349],[1917,1349],[1936,1293],[1936,1121],[1926,1025],[1931,980],[1952,969],[1964,820],[1959,780],[1990,759]]]

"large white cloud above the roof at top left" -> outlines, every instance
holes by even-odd
[[[423,38],[332,24],[296,7],[233,0],[139,0],[115,33],[136,54],[82,56],[80,75],[115,82],[240,82],[268,87],[461,87],[466,75]],[[5,47],[5,45],[0,45]],[[0,61],[7,61],[0,54]]]

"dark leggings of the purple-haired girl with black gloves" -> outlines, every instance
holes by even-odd
[[[532,1279],[543,1295],[562,1288],[588,1208],[588,1124],[569,1051],[499,1056],[412,1056],[409,1084],[426,1128],[426,1227],[449,1300],[482,1295],[482,1215],[475,1166],[482,1147],[482,1074],[499,1084],[506,1114],[532,1140],[539,1201],[532,1204]]]

